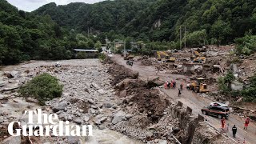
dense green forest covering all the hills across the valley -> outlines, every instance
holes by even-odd
[[[73,49],[99,48],[108,38],[138,42],[150,50],[237,43],[238,53],[256,51],[253,0],[115,0],[57,6],[31,13],[0,0],[0,63],[74,58]]]

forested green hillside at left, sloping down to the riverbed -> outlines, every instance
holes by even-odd
[[[49,15],[26,13],[0,0],[0,65],[69,59],[74,48],[93,49],[95,43],[97,38],[63,29]]]

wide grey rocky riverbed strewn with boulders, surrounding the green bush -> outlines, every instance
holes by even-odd
[[[98,59],[59,61],[61,67],[54,66],[56,62],[30,62],[18,66],[6,66],[1,73],[1,107],[0,113],[2,130],[13,121],[21,120],[24,110],[42,108],[44,113],[56,113],[63,121],[74,122],[78,125],[94,125],[94,137],[72,138],[51,137],[32,138],[35,143],[43,142],[90,142],[90,143],[141,143],[123,134],[110,130],[112,119],[121,108],[114,89],[110,85],[112,77],[107,73],[108,66],[103,66]],[[48,73],[64,86],[61,98],[46,102],[46,106],[38,106],[33,98],[19,98],[17,89],[30,81],[37,74]],[[13,78],[7,78],[11,74]],[[119,102],[120,103],[120,102]],[[129,115],[129,114],[128,114]],[[9,137],[1,133],[2,140]],[[6,143],[22,142],[22,138],[7,138]]]

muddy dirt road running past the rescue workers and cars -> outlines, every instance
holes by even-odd
[[[121,64],[123,66],[126,66],[130,70],[138,71],[139,77],[143,80],[146,80],[149,76],[158,76],[160,79],[166,81],[166,80],[172,80],[172,79],[178,79],[176,80],[177,86],[180,85],[181,82],[185,83],[188,77],[184,75],[179,74],[162,74],[158,73],[157,70],[154,68],[154,66],[142,66],[140,62],[134,62],[133,66],[126,65],[126,61],[123,60],[123,58],[120,55],[114,55],[114,61],[118,62],[118,64]],[[186,86],[186,83],[185,83]],[[172,90],[165,90],[161,89],[162,92],[167,94],[171,99],[178,102],[183,102],[183,105],[190,106],[193,109],[193,114],[198,115],[202,114],[201,109],[203,106],[208,106],[210,104],[210,100],[208,98],[204,98],[202,96],[199,96],[198,94],[195,94],[191,92],[190,90],[182,90],[182,96],[178,97],[178,88],[172,89]],[[206,116],[206,119],[208,122],[217,128],[218,130],[221,130],[221,120],[218,118],[214,118],[211,116]],[[234,138],[234,141],[236,142],[243,142],[245,140],[246,143],[254,144],[256,143],[256,125],[254,123],[250,123],[250,126],[248,127],[248,130],[243,129],[243,123],[245,121],[245,118],[240,118],[238,115],[230,114],[230,117],[228,120],[226,120],[226,124],[229,124],[229,130],[226,133],[227,136],[232,138],[232,126],[236,125],[238,127],[237,137]]]

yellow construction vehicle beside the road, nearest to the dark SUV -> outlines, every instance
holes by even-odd
[[[196,93],[209,92],[209,90],[207,90],[207,84],[203,83],[204,80],[205,78],[196,78],[196,81],[190,84],[190,90],[193,90]]]

